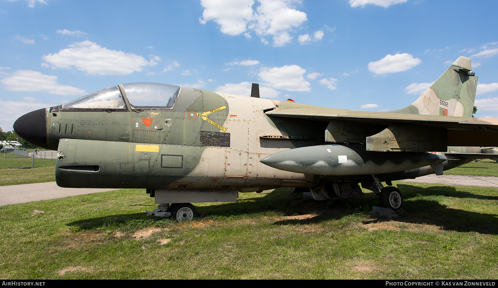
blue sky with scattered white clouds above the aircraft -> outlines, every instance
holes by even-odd
[[[411,104],[459,56],[498,117],[496,1],[0,0],[0,127],[124,83],[333,108]]]

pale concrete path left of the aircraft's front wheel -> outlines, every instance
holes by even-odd
[[[118,189],[61,188],[55,182],[0,186],[0,206]]]

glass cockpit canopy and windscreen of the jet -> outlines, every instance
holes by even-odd
[[[180,86],[160,83],[128,83],[112,86],[62,105],[62,108],[125,109],[128,99],[131,109],[171,109]]]

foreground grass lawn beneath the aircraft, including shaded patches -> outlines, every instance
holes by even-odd
[[[195,203],[208,216],[187,223],[145,216],[143,190],[5,205],[0,278],[497,279],[498,189],[394,185],[407,212],[394,221],[355,211],[377,205],[371,192],[330,209],[288,189],[240,193]]]

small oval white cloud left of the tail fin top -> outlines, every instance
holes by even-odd
[[[411,69],[422,60],[413,58],[411,54],[387,54],[384,58],[369,63],[369,70],[375,74],[387,74],[406,71]]]

